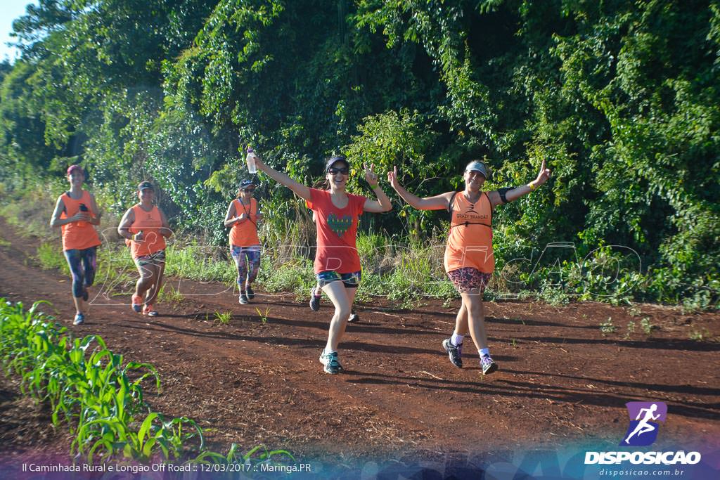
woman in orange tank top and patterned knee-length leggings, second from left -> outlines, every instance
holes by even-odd
[[[140,182],[138,199],[140,202],[122,216],[117,233],[130,245],[132,259],[140,273],[135,294],[132,294],[132,309],[156,317],[158,312],[153,304],[163,284],[165,239],[172,235],[172,231],[165,214],[154,204],[155,188],[152,183]]]

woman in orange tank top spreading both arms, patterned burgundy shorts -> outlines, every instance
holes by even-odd
[[[485,314],[482,311],[482,292],[495,270],[492,255],[492,212],[498,205],[519,199],[544,184],[550,170],[542,162],[534,181],[515,188],[482,191],[487,180],[485,163],[472,161],[464,173],[464,191],[448,191],[436,196],[420,198],[405,190],[397,180],[397,167],[387,172],[387,180],[397,194],[411,207],[420,210],[446,209],[451,214],[450,233],[445,248],[445,271],[462,297],[462,307],[455,320],[451,338],[443,340],[443,348],[451,363],[462,368],[462,341],[470,332],[475,348],[480,353],[482,374],[498,370],[490,356],[485,332]]]

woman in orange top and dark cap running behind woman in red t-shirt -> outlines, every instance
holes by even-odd
[[[253,199],[255,184],[252,180],[243,180],[238,189],[238,198],[230,202],[225,214],[225,227],[230,230],[230,254],[238,268],[238,287],[241,304],[255,298],[253,281],[260,268],[260,240],[258,239],[258,221],[263,214],[258,201]]]

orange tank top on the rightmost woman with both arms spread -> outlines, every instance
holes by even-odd
[[[483,273],[495,270],[492,255],[492,205],[483,191],[471,203],[458,192],[451,201],[450,234],[445,248],[445,271],[472,267]]]

